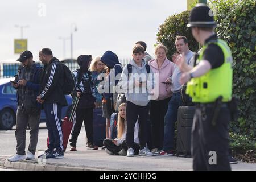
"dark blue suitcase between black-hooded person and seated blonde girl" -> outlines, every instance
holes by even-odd
[[[103,146],[106,138],[106,118],[102,117],[102,108],[93,110],[93,140],[98,147]]]

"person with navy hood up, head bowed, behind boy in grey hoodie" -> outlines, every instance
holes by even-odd
[[[106,109],[107,109],[107,122],[106,122],[106,132],[108,132],[108,128],[110,125],[110,117],[111,114],[114,113],[115,103],[117,94],[115,90],[113,90],[114,86],[117,85],[119,79],[117,75],[121,76],[123,67],[118,60],[117,55],[112,51],[106,51],[104,55],[101,57],[101,62],[104,63],[108,67],[108,71],[106,73],[106,79],[104,85],[101,89],[104,90],[103,97],[106,101]],[[117,78],[117,79],[116,79]],[[115,98],[113,98],[115,97]],[[108,119],[109,118],[109,119]],[[108,138],[109,134],[106,133],[106,138]]]

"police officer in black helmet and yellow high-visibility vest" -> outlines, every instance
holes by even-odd
[[[198,4],[191,10],[187,27],[203,47],[194,68],[184,64],[184,56],[176,60],[187,84],[187,94],[196,103],[192,127],[194,170],[230,170],[228,160],[227,103],[232,98],[232,53],[228,44],[214,33],[216,23],[208,6]]]

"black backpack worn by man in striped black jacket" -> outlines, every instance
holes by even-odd
[[[63,85],[63,93],[65,95],[69,95],[73,92],[75,87],[75,82],[72,76],[70,69],[64,63],[61,63],[64,71],[64,85]]]

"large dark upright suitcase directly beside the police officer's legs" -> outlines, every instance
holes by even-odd
[[[180,106],[177,116],[176,155],[191,157],[191,129],[195,106]]]

